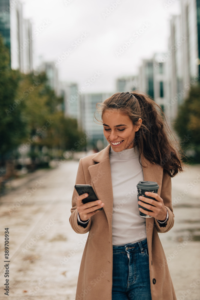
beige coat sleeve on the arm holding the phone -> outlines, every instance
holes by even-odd
[[[78,171],[77,171],[77,175],[76,175],[76,183],[75,184],[86,184],[85,182],[85,176],[84,176],[84,172],[83,172],[83,167],[82,167],[82,158],[79,161],[79,167],[78,167]],[[73,195],[72,195],[72,208],[71,208],[71,215],[69,218],[70,221],[70,225],[72,227],[72,229],[76,232],[76,233],[87,233],[90,228],[91,228],[91,222],[92,222],[92,218],[90,218],[89,222],[87,223],[87,225],[79,225],[78,223],[78,218],[77,218],[77,205],[76,205],[76,198],[77,198],[78,194],[77,191],[73,190]]]

